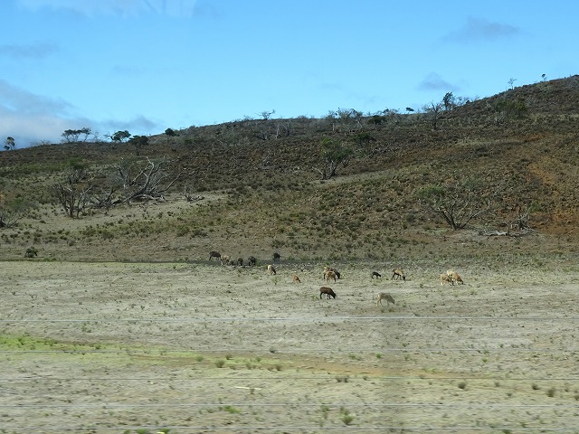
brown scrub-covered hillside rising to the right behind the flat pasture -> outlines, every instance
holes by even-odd
[[[0,258],[22,258],[33,246],[38,259],[57,260],[206,260],[209,250],[392,264],[573,260],[578,126],[573,76],[442,109],[436,125],[428,112],[242,119],[149,137],[138,150],[81,143],[3,152],[3,206],[22,199],[33,207],[14,227],[0,229]],[[328,180],[318,170],[324,139],[355,153]],[[87,167],[92,193],[112,185],[119,193],[120,162],[143,166],[147,158],[164,161],[167,182],[179,174],[166,201],[87,207],[71,219],[53,196],[71,162]],[[459,231],[423,212],[420,188],[465,180],[493,193],[490,212]],[[203,199],[187,202],[185,190]],[[489,236],[526,208],[533,231]]]

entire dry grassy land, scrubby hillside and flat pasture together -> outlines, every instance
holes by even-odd
[[[460,101],[1,152],[0,434],[579,433],[579,76]]]

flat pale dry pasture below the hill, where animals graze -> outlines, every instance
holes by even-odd
[[[578,432],[578,270],[324,265],[3,262],[0,432]]]

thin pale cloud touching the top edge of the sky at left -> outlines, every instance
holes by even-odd
[[[77,14],[94,16],[114,14],[133,16],[141,13],[166,14],[191,17],[196,0],[17,0],[18,4],[37,11],[42,8],[68,10]]]

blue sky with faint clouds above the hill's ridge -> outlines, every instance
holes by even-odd
[[[579,73],[579,2],[2,0],[0,142],[421,109]]]

